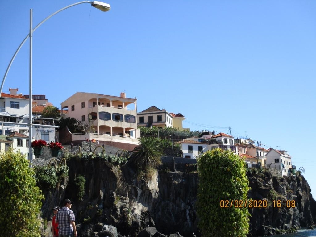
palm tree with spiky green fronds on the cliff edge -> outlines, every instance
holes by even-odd
[[[133,162],[143,169],[162,165],[162,149],[159,142],[153,137],[139,138],[140,145],[133,150]]]

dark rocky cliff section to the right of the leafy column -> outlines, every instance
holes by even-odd
[[[247,173],[249,179],[248,198],[266,200],[265,208],[249,208],[253,236],[294,232],[297,228],[315,223],[315,200],[303,176],[283,178],[272,176],[267,171]],[[275,202],[273,202],[273,200]],[[277,207],[277,201],[281,207]],[[287,205],[295,207],[287,208]]]

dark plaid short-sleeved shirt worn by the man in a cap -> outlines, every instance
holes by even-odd
[[[56,222],[58,222],[59,232],[58,234],[73,234],[71,221],[75,221],[75,214],[68,207],[60,209],[56,216]]]

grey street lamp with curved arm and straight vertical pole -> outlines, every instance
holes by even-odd
[[[102,2],[98,2],[98,1],[93,1],[93,2],[90,2],[90,1],[82,1],[82,2],[78,2],[78,3],[74,3],[74,4],[71,4],[69,6],[66,6],[62,9],[59,9],[58,11],[54,12],[53,14],[49,15],[48,17],[46,17],[43,21],[41,21],[36,27],[34,27],[33,29],[33,10],[30,9],[30,33],[25,37],[25,39],[22,41],[22,43],[20,44],[20,46],[18,47],[18,49],[15,51],[13,57],[11,58],[11,61],[8,65],[8,68],[3,76],[3,80],[2,80],[2,83],[1,83],[1,87],[0,87],[0,97],[1,97],[1,94],[2,94],[2,90],[3,90],[3,85],[4,85],[4,82],[5,82],[5,79],[7,77],[7,74],[9,72],[9,69],[11,67],[11,64],[16,56],[16,54],[20,51],[21,47],[23,46],[23,44],[25,43],[25,41],[27,40],[27,38],[30,38],[30,57],[29,57],[29,61],[30,61],[30,73],[29,73],[29,77],[30,77],[30,81],[29,81],[29,117],[28,117],[28,120],[29,120],[29,131],[28,131],[28,139],[29,139],[29,142],[28,142],[28,159],[29,161],[31,162],[32,161],[32,38],[33,38],[33,32],[41,25],[43,24],[45,21],[47,21],[49,18],[51,18],[53,15],[56,15],[57,13],[67,9],[67,8],[70,8],[70,7],[73,7],[73,6],[76,6],[78,4],[82,4],[82,3],[90,3],[91,6],[97,8],[97,9],[100,9],[101,11],[108,11],[111,9],[110,7],[110,4],[107,4],[107,3],[102,3]]]

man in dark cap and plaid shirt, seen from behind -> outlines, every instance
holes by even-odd
[[[56,216],[56,222],[58,222],[59,227],[59,237],[76,237],[77,230],[75,224],[75,214],[71,208],[71,201],[65,199],[64,207],[60,209]]]

